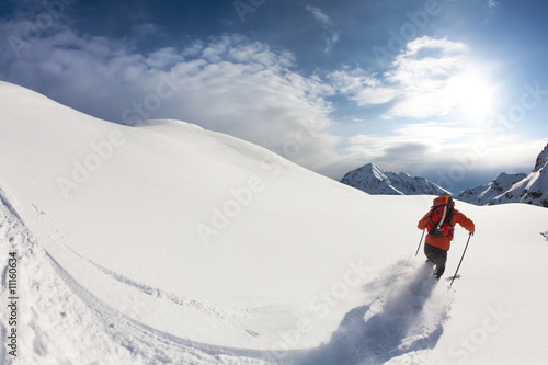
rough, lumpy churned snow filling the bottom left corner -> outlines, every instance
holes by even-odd
[[[4,201],[0,205],[1,296],[8,253],[18,252],[18,356],[5,353],[2,311],[1,364],[265,364],[260,351],[224,349],[178,339],[124,316],[84,287],[34,241]],[[90,310],[91,309],[91,310]],[[251,358],[247,358],[250,356]]]

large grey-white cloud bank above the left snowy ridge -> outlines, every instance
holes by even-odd
[[[19,58],[2,57],[0,78],[113,122],[195,123],[317,171],[339,158],[332,106],[324,99],[333,90],[316,76],[293,71],[289,53],[221,36],[141,54],[124,42],[56,31],[21,49]],[[159,85],[165,98],[155,99]],[[304,140],[304,130],[313,138]],[[297,151],[288,148],[295,141]]]

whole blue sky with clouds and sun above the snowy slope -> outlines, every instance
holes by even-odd
[[[178,118],[341,179],[458,193],[548,142],[541,0],[2,1],[0,80],[132,124]]]

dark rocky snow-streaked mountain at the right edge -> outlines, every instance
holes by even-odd
[[[489,185],[466,190],[457,198],[476,205],[526,203],[548,208],[548,145],[528,175],[501,173]]]

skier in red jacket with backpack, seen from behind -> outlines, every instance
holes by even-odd
[[[436,209],[437,212],[435,212]],[[432,217],[435,216],[435,213],[442,215],[442,221],[433,221]],[[436,226],[436,224],[438,224],[438,226],[442,226],[443,224],[446,231],[444,233],[436,233],[435,229],[432,229]],[[456,224],[463,226],[471,235],[473,235],[473,231],[476,230],[473,221],[459,210],[455,209],[455,202],[453,202],[453,197],[448,194],[435,198],[432,210],[426,213],[419,221],[419,229],[423,230],[429,228],[429,235],[426,235],[426,239],[424,240],[424,254],[427,258],[427,262],[431,262],[436,266],[434,274],[436,278],[442,277],[445,271],[447,251],[449,251],[454,227]]]

